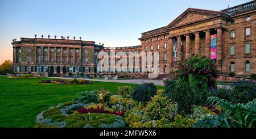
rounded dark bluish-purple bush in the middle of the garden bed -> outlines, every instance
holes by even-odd
[[[152,96],[156,94],[156,87],[154,83],[144,83],[143,85],[136,86],[131,92],[131,98],[146,104]]]

